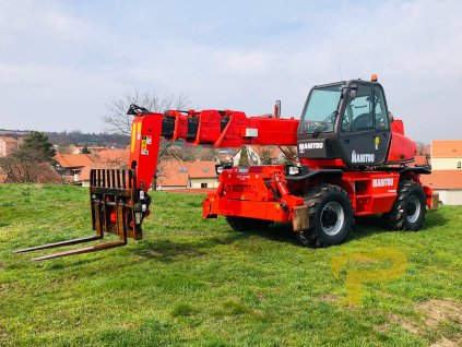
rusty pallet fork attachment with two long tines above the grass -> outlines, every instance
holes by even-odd
[[[93,253],[126,246],[128,238],[141,240],[143,238],[141,222],[143,212],[147,210],[144,191],[137,189],[134,170],[92,169],[90,174],[90,202],[92,210],[92,226],[95,236],[67,240],[26,248],[15,253],[32,252],[64,246],[73,246],[104,238],[105,232],[119,236],[119,240],[98,243],[76,250],[58,252],[34,258],[43,261],[82,253]]]

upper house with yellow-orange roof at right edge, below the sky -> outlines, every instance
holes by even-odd
[[[462,140],[434,140],[431,169],[462,170]]]

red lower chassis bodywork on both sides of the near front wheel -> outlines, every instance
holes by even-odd
[[[291,192],[283,172],[283,166],[250,167],[247,172],[225,170],[220,177],[217,191],[204,201],[204,217],[225,215],[291,220],[294,207],[304,205],[305,201],[292,195],[295,192]],[[344,189],[352,200],[354,215],[364,216],[389,212],[396,199],[399,181],[398,172],[363,171],[344,172],[342,177],[324,182]],[[284,191],[285,195],[281,193]]]

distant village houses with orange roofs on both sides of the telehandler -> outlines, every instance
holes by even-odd
[[[8,157],[21,145],[23,137],[0,136],[0,157]],[[90,170],[95,168],[127,168],[128,148],[74,144],[55,145],[57,155],[52,170],[43,170],[37,182],[66,182],[87,187]],[[277,146],[249,145],[241,148],[201,148],[185,143],[174,144],[174,153],[194,152],[188,159],[182,156],[161,158],[152,189],[189,190],[213,189],[218,184],[216,166],[240,166],[245,156],[248,165],[284,164],[286,152]],[[292,148],[293,149],[293,148]],[[242,154],[244,151],[244,154]],[[294,149],[293,149],[294,151]],[[415,165],[431,165],[431,175],[422,175],[422,181],[439,192],[440,201],[449,205],[462,205],[462,140],[434,140],[420,147]],[[0,169],[0,183],[9,177]]]

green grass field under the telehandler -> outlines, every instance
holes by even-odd
[[[461,207],[428,213],[417,232],[359,219],[345,244],[312,250],[287,226],[202,220],[202,199],[154,193],[144,240],[35,263],[12,251],[92,232],[87,190],[0,186],[0,345],[461,344]],[[365,284],[363,303],[347,304],[348,267],[335,278],[332,260],[377,247],[406,255],[404,276]]]

